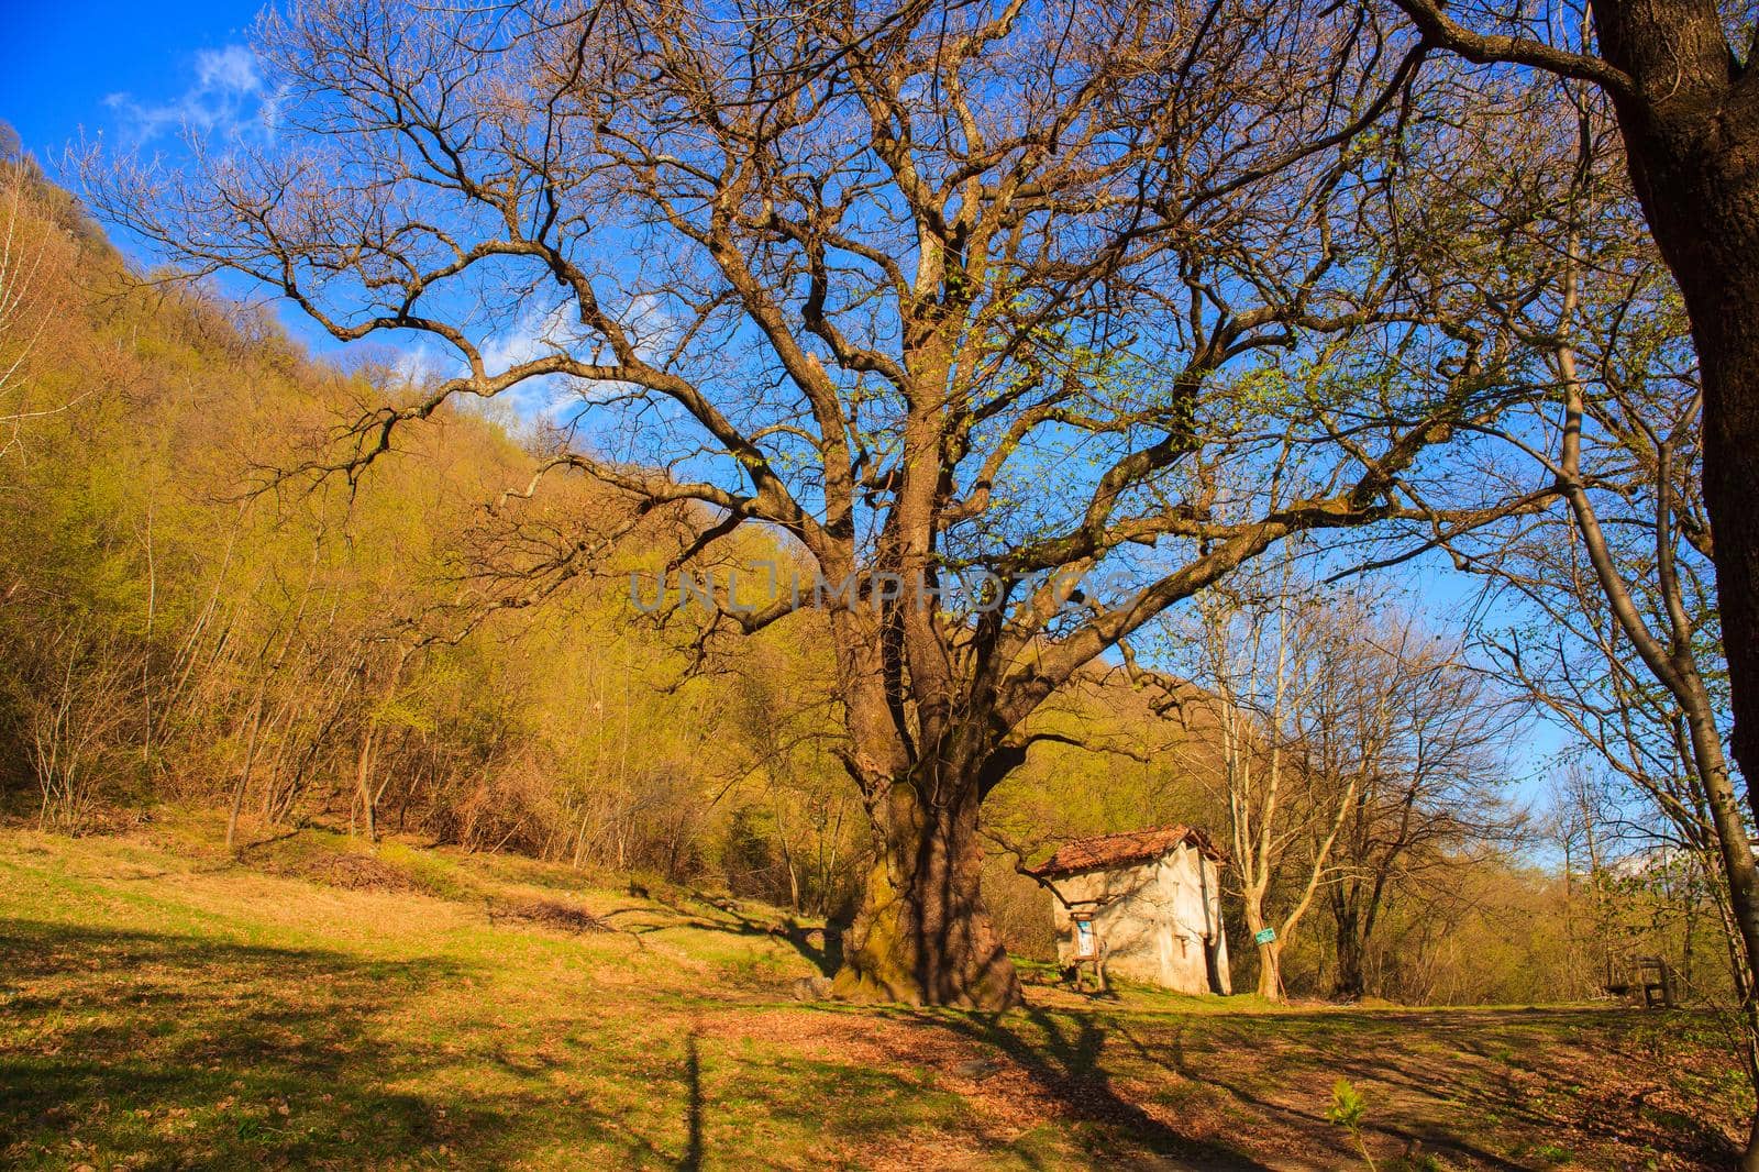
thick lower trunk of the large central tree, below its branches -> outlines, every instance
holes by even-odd
[[[878,799],[880,857],[846,940],[837,996],[990,1010],[1020,1005],[1020,980],[978,890],[978,785],[952,788],[943,804],[923,802],[909,781]]]

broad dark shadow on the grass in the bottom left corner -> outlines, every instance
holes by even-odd
[[[443,957],[0,920],[0,973],[7,1167],[489,1167],[556,1142],[677,1158],[538,1077],[478,1091],[478,1056],[408,1024],[470,978]]]

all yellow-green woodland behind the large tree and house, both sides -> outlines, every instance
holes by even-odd
[[[681,554],[688,526],[584,479],[529,494],[542,419],[442,407],[362,477],[324,475],[348,424],[420,392],[396,355],[313,359],[262,310],[132,271],[32,162],[0,183],[14,818],[91,832],[176,802],[223,817],[234,850],[317,825],[362,848],[517,852],[851,913],[872,841],[836,757],[820,614],[739,644],[644,614],[628,570]],[[558,551],[631,528],[640,553],[624,540],[602,574],[556,570]],[[1050,897],[1018,862],[1084,832],[1228,825],[1223,748],[1164,699],[1101,662],[1034,718],[1043,743],[987,808],[985,890],[1010,950],[1052,947]],[[1543,827],[1497,802],[1497,825],[1455,818],[1381,864],[1376,829],[1353,824],[1363,853],[1332,866],[1384,887],[1356,993],[1578,998],[1609,933],[1687,973],[1696,945],[1715,980],[1697,896],[1608,910],[1527,862]],[[1300,897],[1309,846],[1270,876],[1268,912]],[[1339,985],[1347,912],[1323,894],[1288,933],[1289,993]]]

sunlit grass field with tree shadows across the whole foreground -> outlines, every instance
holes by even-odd
[[[1272,1008],[1033,987],[1003,1015],[800,1003],[830,959],[688,890],[199,817],[0,831],[0,1165],[1724,1167],[1715,1019]],[[609,927],[610,931],[605,931]]]

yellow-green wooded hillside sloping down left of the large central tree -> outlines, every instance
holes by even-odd
[[[245,838],[308,818],[369,836],[376,818],[698,873],[741,866],[728,845],[769,801],[749,774],[783,751],[799,822],[836,824],[811,815],[836,804],[813,788],[821,762],[785,736],[814,699],[799,653],[776,641],[762,670],[690,683],[621,577],[542,614],[491,581],[610,523],[582,491],[494,507],[529,480],[531,435],[443,412],[366,482],[288,475],[396,396],[396,371],[315,363],[260,311],[128,273],[28,169],[5,201],[30,326],[7,334],[0,473],[19,808],[86,829],[171,797],[236,808]],[[792,815],[774,809],[804,868],[821,845]],[[802,899],[823,880],[802,875]]]

